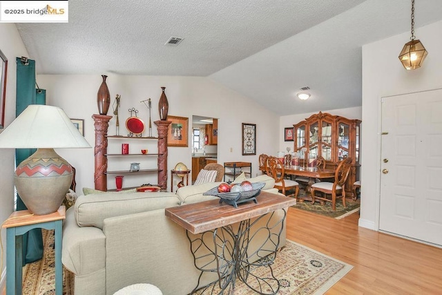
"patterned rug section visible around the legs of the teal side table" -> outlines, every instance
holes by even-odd
[[[23,295],[55,294],[55,250],[54,231],[41,230],[43,233],[43,258],[23,267]],[[63,294],[74,294],[74,276],[63,267]]]

